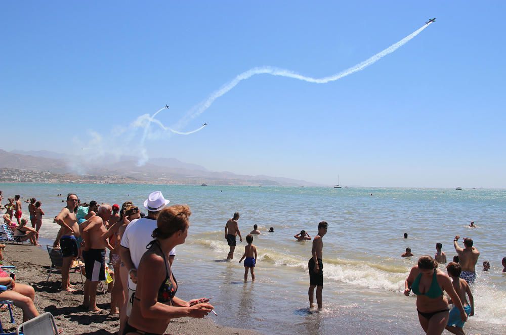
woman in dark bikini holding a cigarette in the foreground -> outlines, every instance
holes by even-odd
[[[203,318],[214,309],[208,299],[184,301],[176,297],[178,283],[171,271],[168,254],[185,243],[191,215],[187,205],[164,208],[158,215],[155,238],[148,245],[137,270],[137,291],[132,314],[123,335],[163,334],[172,318]]]

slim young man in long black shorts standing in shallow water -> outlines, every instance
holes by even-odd
[[[314,307],[314,291],[316,288],[316,302],[318,303],[318,310],[322,309],[321,293],[323,291],[323,235],[327,233],[327,222],[321,221],[318,223],[318,235],[313,240],[313,249],[311,250],[312,257],[308,262],[309,269],[309,307]]]

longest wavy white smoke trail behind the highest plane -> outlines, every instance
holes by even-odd
[[[362,71],[363,69],[365,69],[369,65],[372,65],[372,64],[376,63],[377,61],[379,61],[380,59],[382,59],[383,57],[390,55],[391,53],[393,53],[394,51],[399,49],[399,47],[401,47],[402,45],[406,44],[411,39],[413,39],[416,35],[418,35],[420,32],[422,32],[424,29],[426,29],[431,24],[432,24],[432,22],[430,22],[429,24],[424,24],[421,28],[417,29],[416,31],[414,31],[410,35],[404,37],[403,39],[401,39],[397,43],[390,45],[389,47],[387,47],[387,49],[377,53],[376,55],[370,57],[369,59],[363,61],[362,63],[359,63],[347,70],[344,70],[340,73],[336,73],[336,74],[328,76],[328,77],[312,78],[312,77],[303,76],[301,74],[298,74],[298,73],[290,71],[290,70],[280,69],[280,68],[270,67],[270,66],[256,67],[256,68],[249,69],[249,70],[237,75],[230,82],[226,83],[222,88],[220,88],[219,90],[217,90],[216,92],[211,94],[209,96],[209,98],[207,98],[207,100],[205,100],[204,102],[200,103],[199,105],[197,105],[196,107],[191,109],[186,114],[186,116],[182,120],[180,120],[180,122],[178,123],[178,126],[184,126],[186,123],[188,123],[188,121],[190,121],[191,119],[194,119],[197,116],[199,116],[200,114],[202,114],[205,110],[207,110],[215,102],[216,99],[220,98],[222,95],[224,95],[229,90],[234,88],[242,80],[248,79],[248,78],[258,75],[258,74],[270,74],[273,76],[288,77],[288,78],[303,80],[303,81],[312,82],[312,83],[316,83],[316,84],[325,84],[330,81],[339,80],[339,79],[346,77],[352,73]]]

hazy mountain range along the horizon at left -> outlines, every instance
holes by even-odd
[[[205,167],[185,163],[176,158],[152,158],[145,165],[138,166],[135,157],[119,159],[85,160],[82,156],[65,155],[51,151],[7,152],[0,149],[0,168],[49,171],[59,174],[114,175],[132,177],[146,182],[164,180],[180,183],[231,184],[231,185],[281,185],[321,186],[321,184],[283,177],[265,175],[239,175],[228,171],[209,171]]]

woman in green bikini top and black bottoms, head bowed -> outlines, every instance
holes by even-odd
[[[404,282],[404,295],[409,296],[411,291],[416,295],[418,320],[424,331],[430,335],[441,335],[448,323],[450,309],[443,291],[446,291],[460,310],[462,321],[467,319],[450,277],[438,270],[437,266],[438,263],[431,256],[421,256]]]

